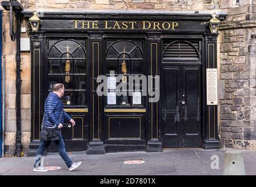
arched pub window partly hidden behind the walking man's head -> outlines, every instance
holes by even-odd
[[[63,105],[86,105],[86,57],[85,41],[49,40],[48,83],[49,92],[53,85],[65,85]]]

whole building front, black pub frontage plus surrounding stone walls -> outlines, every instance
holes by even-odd
[[[6,153],[22,147],[36,154],[44,101],[58,82],[65,85],[64,110],[76,122],[62,130],[67,151],[256,149],[254,2],[21,4],[21,37],[30,47],[20,58],[20,109],[16,42],[8,34],[9,11],[3,12]],[[35,10],[36,32],[30,26]],[[215,18],[219,32],[210,27]],[[129,94],[117,94],[120,82],[134,82],[122,88]]]

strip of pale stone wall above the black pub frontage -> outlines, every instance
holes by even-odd
[[[22,0],[26,9],[214,10],[219,0]]]

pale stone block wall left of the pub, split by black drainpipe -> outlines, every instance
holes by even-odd
[[[16,42],[9,35],[9,13],[3,13],[2,55],[5,56],[5,151],[15,150],[16,137]],[[22,37],[27,37],[22,34]],[[30,53],[21,54],[21,131],[23,150],[30,142]]]

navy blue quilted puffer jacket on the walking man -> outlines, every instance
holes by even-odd
[[[60,119],[60,114],[63,115]],[[59,121],[60,119],[60,121]],[[63,110],[63,103],[56,93],[50,92],[44,103],[44,122],[43,126],[53,127],[63,124],[65,120],[70,120],[71,116]]]

